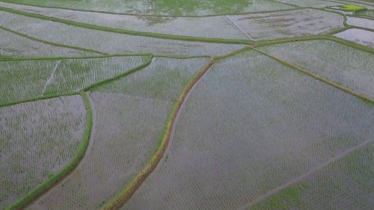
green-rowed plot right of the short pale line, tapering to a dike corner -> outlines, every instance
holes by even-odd
[[[63,59],[46,83],[43,95],[78,91],[93,83],[115,77],[145,63],[146,56]]]

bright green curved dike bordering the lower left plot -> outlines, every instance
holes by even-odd
[[[89,104],[88,96],[86,95],[86,93],[83,91],[80,91],[80,92],[76,92],[74,95],[77,95],[77,94],[80,94],[82,96],[83,102],[86,108],[86,126],[83,132],[82,143],[79,145],[77,153],[74,155],[71,161],[67,165],[65,165],[58,173],[51,176],[45,182],[37,186],[37,188],[35,188],[33,191],[28,192],[23,198],[19,199],[15,204],[7,207],[5,210],[19,210],[25,207],[28,203],[35,200],[39,195],[41,195],[43,192],[48,190],[56,182],[58,182],[63,177],[65,177],[65,175],[70,173],[77,166],[77,164],[82,159],[82,157],[85,155],[86,149],[88,147],[88,142],[90,139],[90,134],[91,134],[92,111],[91,111],[91,106]]]

